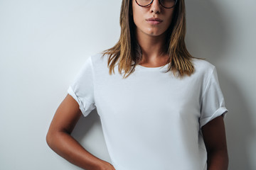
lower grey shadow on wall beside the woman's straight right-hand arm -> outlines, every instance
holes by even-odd
[[[245,103],[245,97],[232,79],[225,72],[218,75],[221,88],[225,96],[225,105],[228,115],[225,120],[225,128],[228,142],[228,154],[230,158],[229,169],[253,169],[250,167],[250,139],[255,134],[250,118],[249,109]]]

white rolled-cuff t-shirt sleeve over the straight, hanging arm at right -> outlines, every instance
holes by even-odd
[[[219,115],[223,115],[225,118],[227,112],[223,93],[218,82],[218,74],[214,67],[202,96],[200,128]]]

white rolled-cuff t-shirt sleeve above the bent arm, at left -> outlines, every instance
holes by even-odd
[[[92,58],[89,57],[68,88],[68,94],[78,102],[84,116],[96,108],[93,79]]]

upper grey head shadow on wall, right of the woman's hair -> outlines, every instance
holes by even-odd
[[[213,1],[186,1],[186,45],[195,57],[219,59],[225,51],[228,30]]]

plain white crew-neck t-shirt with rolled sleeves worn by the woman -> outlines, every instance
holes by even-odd
[[[204,170],[201,127],[227,113],[213,64],[193,59],[196,72],[177,79],[164,67],[142,67],[122,79],[109,74],[107,55],[92,55],[68,94],[87,116],[97,108],[117,170]]]

